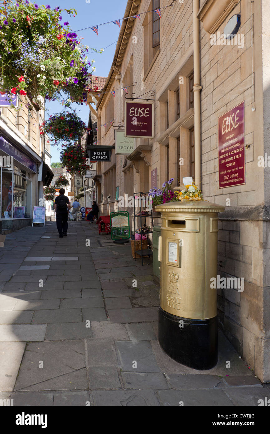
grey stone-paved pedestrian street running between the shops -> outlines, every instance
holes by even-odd
[[[90,247],[89,247],[90,243]],[[98,226],[55,222],[0,248],[0,400],[14,406],[257,406],[270,398],[225,336],[209,371],[157,341],[152,259],[133,260]],[[230,362],[230,363],[228,363]],[[228,368],[228,366],[230,367]]]

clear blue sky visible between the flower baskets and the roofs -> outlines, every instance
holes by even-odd
[[[97,76],[106,77],[110,71],[111,64],[114,57],[116,42],[119,35],[119,27],[114,23],[106,24],[104,26],[99,26],[99,36],[97,36],[93,30],[82,30],[77,32],[79,29],[84,29],[85,27],[96,26],[107,21],[117,20],[124,16],[124,11],[127,6],[127,0],[90,0],[90,3],[86,3],[85,0],[71,1],[71,0],[48,0],[51,8],[60,6],[60,9],[70,9],[74,8],[77,10],[77,16],[69,17],[67,13],[62,13],[62,23],[68,21],[72,30],[75,31],[78,36],[83,36],[82,43],[88,45],[90,48],[101,49],[104,48],[102,54],[91,53],[88,51],[88,59],[94,59],[94,66],[96,71],[94,72]],[[38,4],[40,4],[38,2]],[[46,3],[47,4],[47,3]],[[121,21],[122,24],[122,21]],[[115,43],[114,43],[115,42]],[[108,45],[113,43],[111,46],[105,49]],[[90,68],[91,69],[91,68]],[[80,115],[81,119],[87,124],[89,116],[89,107],[86,105],[73,104],[73,109],[76,109],[77,113]],[[54,115],[63,110],[63,106],[57,101],[51,101],[46,103],[46,118],[49,115]],[[60,151],[56,146],[51,146],[52,163],[59,161]]]

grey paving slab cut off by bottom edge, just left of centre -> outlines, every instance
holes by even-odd
[[[96,406],[122,406],[122,407],[147,407],[159,406],[153,390],[114,390],[93,391],[94,405]]]

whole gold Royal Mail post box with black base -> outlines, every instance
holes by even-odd
[[[218,361],[218,212],[207,201],[169,202],[159,237],[159,343],[177,362],[210,369]]]

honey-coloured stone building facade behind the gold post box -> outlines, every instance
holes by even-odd
[[[119,196],[149,191],[154,169],[157,187],[170,178],[176,187],[183,177],[192,177],[205,200],[226,206],[219,215],[218,270],[220,276],[243,278],[244,291],[218,289],[220,327],[260,380],[268,382],[270,193],[268,166],[259,164],[265,154],[268,161],[270,147],[267,0],[164,3],[127,2],[125,17],[131,18],[122,22],[97,104],[98,140],[114,145],[114,129],[124,125],[124,87],[135,101],[155,91],[154,138],[137,138],[130,155],[113,151],[111,162],[97,163],[101,214],[118,209],[117,187]],[[157,20],[153,10],[158,7]],[[140,19],[133,17],[138,14]],[[237,35],[221,44],[220,35],[235,16],[240,17]],[[218,118],[241,102],[245,183],[219,188]],[[158,215],[154,221],[160,225]]]

